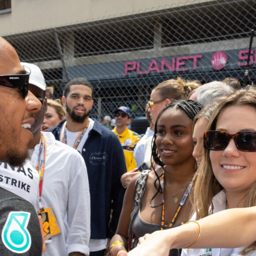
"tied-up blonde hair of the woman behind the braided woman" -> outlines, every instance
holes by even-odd
[[[180,77],[159,83],[153,90],[157,91],[162,99],[180,100],[188,98],[190,92],[200,87],[200,82],[184,80]]]

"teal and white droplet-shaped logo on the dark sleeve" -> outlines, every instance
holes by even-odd
[[[2,241],[12,252],[27,252],[31,246],[30,233],[27,225],[30,219],[30,212],[11,211],[2,230]]]

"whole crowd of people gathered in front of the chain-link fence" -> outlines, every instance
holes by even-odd
[[[84,78],[47,99],[0,38],[0,90],[1,255],[256,255],[255,88],[166,80],[141,136],[128,106],[90,117]]]

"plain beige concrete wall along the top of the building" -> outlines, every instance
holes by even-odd
[[[195,0],[193,4],[209,1]],[[160,10],[180,3],[181,0],[11,0],[11,12],[0,14],[0,35]]]

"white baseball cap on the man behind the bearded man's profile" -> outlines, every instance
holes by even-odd
[[[21,62],[20,64],[23,66],[26,72],[30,73],[29,83],[39,87],[41,90],[46,90],[45,78],[40,68],[35,64],[26,62]]]

